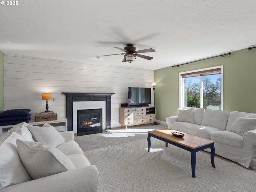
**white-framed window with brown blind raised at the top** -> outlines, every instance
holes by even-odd
[[[180,108],[223,110],[223,66],[180,72]]]

